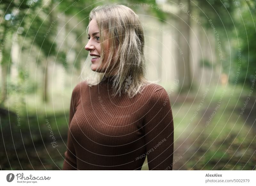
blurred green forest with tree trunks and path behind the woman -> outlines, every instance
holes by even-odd
[[[173,170],[256,170],[254,0],[0,0],[0,169],[62,168],[88,15],[112,3],[139,15],[169,94]]]

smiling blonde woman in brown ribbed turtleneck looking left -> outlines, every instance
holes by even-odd
[[[63,170],[140,170],[146,156],[149,170],[171,170],[171,105],[166,90],[145,79],[138,16],[124,5],[96,7],[88,39],[98,78],[72,92]]]

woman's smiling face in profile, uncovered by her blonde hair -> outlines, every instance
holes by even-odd
[[[92,57],[92,71],[101,72],[102,69],[99,67],[100,65],[100,30],[97,25],[97,21],[92,19],[89,23],[88,28],[88,43],[85,45],[85,50],[90,51],[90,56]]]

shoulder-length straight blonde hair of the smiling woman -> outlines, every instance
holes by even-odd
[[[100,30],[100,65],[105,65],[106,70],[94,73],[92,79],[87,78],[90,87],[103,81],[106,72],[114,70],[117,73],[113,76],[113,96],[127,93],[132,98],[141,93],[145,85],[157,82],[145,78],[144,32],[132,9],[120,4],[98,6],[90,12],[89,22],[92,19],[96,19]],[[90,63],[90,59],[88,55],[86,63]]]

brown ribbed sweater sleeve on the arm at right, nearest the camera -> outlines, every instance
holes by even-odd
[[[173,118],[164,88],[150,98],[143,122],[149,170],[172,170]]]

